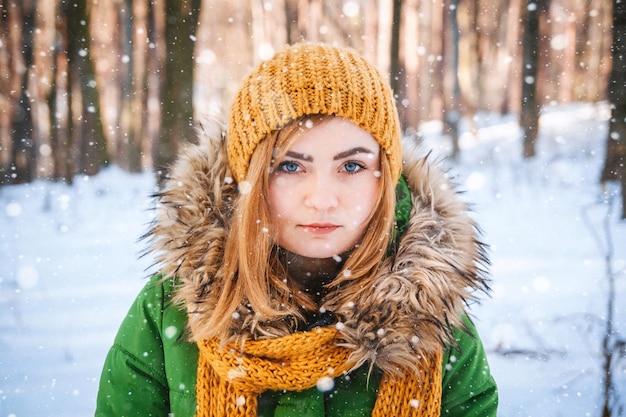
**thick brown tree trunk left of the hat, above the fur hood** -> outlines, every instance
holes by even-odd
[[[178,144],[195,140],[193,68],[200,0],[167,0],[165,74],[161,90],[162,125],[154,163],[159,183],[175,159]]]

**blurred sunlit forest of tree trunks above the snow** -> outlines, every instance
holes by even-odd
[[[259,60],[298,41],[362,52],[405,132],[519,118],[535,155],[547,105],[626,101],[619,0],[2,0],[0,184],[161,169]],[[617,61],[615,61],[615,57]],[[613,75],[611,75],[613,73]],[[623,170],[624,117],[602,180]],[[621,161],[621,162],[620,162]],[[622,167],[622,168],[620,168]]]

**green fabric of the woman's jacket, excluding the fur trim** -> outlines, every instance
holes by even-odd
[[[122,323],[106,358],[96,417],[193,417],[198,349],[184,340],[186,313],[169,300],[172,281],[153,278]],[[446,350],[442,416],[495,416],[496,385],[476,330],[455,332],[458,346]],[[334,390],[314,387],[303,393],[268,392],[259,398],[259,416],[368,416],[376,400],[380,374],[366,369],[338,378]]]

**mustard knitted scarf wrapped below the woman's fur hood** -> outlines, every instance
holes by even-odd
[[[302,391],[322,377],[348,372],[350,349],[335,344],[334,327],[260,341],[240,347],[217,340],[198,342],[197,417],[256,416],[264,391]],[[372,416],[439,416],[441,352],[421,358],[418,372],[384,374]]]

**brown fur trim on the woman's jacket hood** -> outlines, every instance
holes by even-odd
[[[206,315],[198,312],[210,312],[219,295],[238,198],[225,141],[222,121],[199,127],[198,143],[181,151],[157,195],[155,221],[146,235],[159,273],[179,283],[175,302],[187,308],[194,341],[207,332]],[[356,364],[394,372],[413,367],[420,355],[454,345],[453,331],[463,328],[468,303],[488,291],[485,246],[467,205],[447,176],[420,155],[414,140],[406,140],[403,149],[404,204],[412,207],[395,252],[382,263],[375,285],[347,289],[350,302],[338,302],[332,294],[324,300]],[[245,307],[238,313],[249,317],[238,320],[239,335],[261,339],[292,331],[284,320],[265,321]]]

